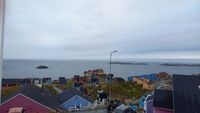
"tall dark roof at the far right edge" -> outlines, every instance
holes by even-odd
[[[200,76],[173,75],[174,112],[200,113]]]

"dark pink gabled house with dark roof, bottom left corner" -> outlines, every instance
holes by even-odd
[[[60,110],[56,98],[34,85],[24,86],[21,91],[2,98],[0,107],[0,113],[8,113],[13,110],[27,113],[49,113]]]

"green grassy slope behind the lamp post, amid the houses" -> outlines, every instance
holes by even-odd
[[[97,90],[104,90],[108,94],[109,86],[101,83],[99,86],[87,86],[88,95],[93,99],[97,98]],[[113,80],[111,84],[112,98],[123,101],[125,98],[139,98],[144,94],[142,85],[138,85],[133,81],[118,82]]]

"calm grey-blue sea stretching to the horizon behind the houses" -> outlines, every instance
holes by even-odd
[[[112,64],[112,73],[115,77],[127,80],[129,76],[167,72],[170,74],[199,74],[200,66],[160,66],[162,63],[200,64],[199,59],[129,59],[114,60],[114,62],[147,63],[148,65]],[[48,69],[36,69],[39,65],[46,65]],[[43,78],[58,77],[71,78],[74,75],[83,75],[86,70],[103,69],[109,72],[107,60],[23,60],[5,59],[3,62],[3,78]]]

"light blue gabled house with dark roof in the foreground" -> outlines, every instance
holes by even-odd
[[[94,102],[89,96],[76,88],[70,88],[58,95],[58,102],[63,109],[69,108],[83,108],[87,107]]]

